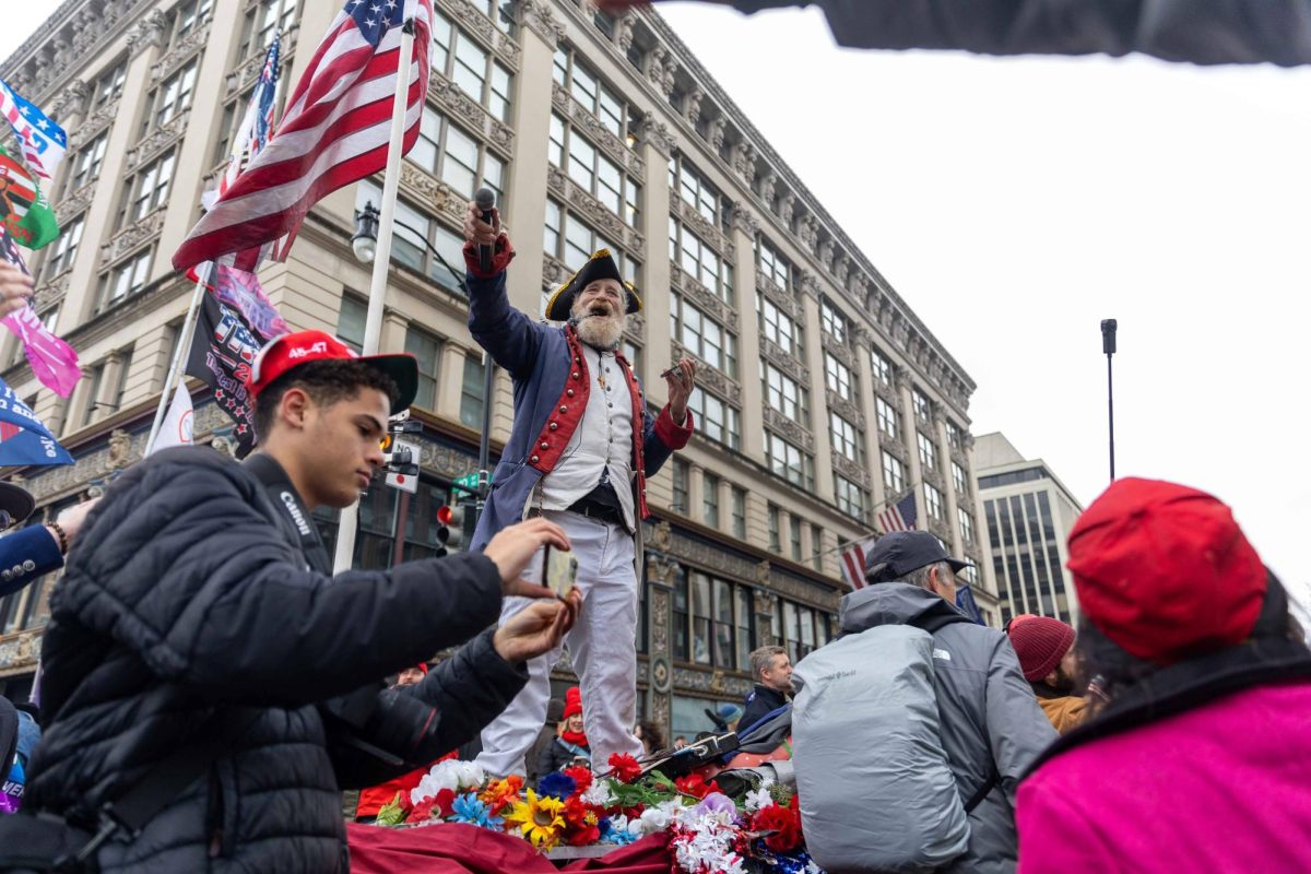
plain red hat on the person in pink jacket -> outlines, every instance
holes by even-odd
[[[1160,480],[1117,480],[1070,532],[1079,604],[1130,655],[1155,664],[1252,634],[1266,570],[1230,508]]]

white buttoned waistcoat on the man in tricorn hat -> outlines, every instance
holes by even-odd
[[[628,379],[614,352],[583,343],[582,354],[591,379],[587,409],[560,461],[541,480],[541,508],[568,510],[608,473],[624,525],[633,531],[633,398]]]

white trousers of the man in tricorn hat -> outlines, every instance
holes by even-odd
[[[562,510],[544,518],[564,528],[578,560],[578,590],[583,595],[578,621],[565,636],[582,692],[583,723],[593,768],[604,770],[611,753],[642,752],[633,736],[637,719],[637,573],[633,537],[621,525],[597,522]],[[541,582],[541,553],[523,574]],[[531,603],[507,598],[501,624]],[[497,777],[523,774],[523,756],[538,739],[551,700],[551,668],[561,647],[528,660],[528,684],[510,706],[482,730],[479,764]]]

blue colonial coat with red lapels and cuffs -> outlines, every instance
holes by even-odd
[[[503,266],[492,276],[480,276],[473,248],[465,246],[464,256],[469,267],[465,276],[469,332],[514,381],[510,440],[492,474],[492,493],[469,545],[482,549],[498,531],[523,520],[534,489],[555,469],[582,421],[594,380],[587,373],[582,342],[572,326],[532,321],[510,305]],[[659,415],[652,415],[632,366],[623,355],[616,354],[615,359],[633,404],[632,463],[637,473],[633,487],[638,516],[645,519],[646,478],[654,476],[675,449],[687,446],[692,436],[692,413],[688,410],[682,427],[674,425],[669,406]]]

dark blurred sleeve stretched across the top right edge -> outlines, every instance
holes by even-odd
[[[1311,0],[708,0],[747,14],[818,7],[851,48],[1127,55],[1194,64],[1311,63]],[[608,10],[645,5],[599,0]]]

